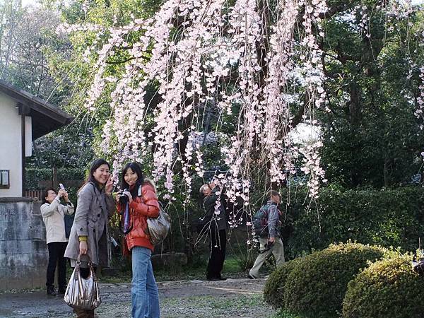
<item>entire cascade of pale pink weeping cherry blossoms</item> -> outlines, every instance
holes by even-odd
[[[191,191],[192,172],[201,176],[204,169],[201,149],[192,140],[204,131],[204,112],[216,105],[220,114],[231,114],[237,105],[237,129],[221,149],[229,169],[218,179],[226,194],[248,205],[253,169],[259,164],[268,168],[271,182],[284,182],[288,173],[295,172],[300,153],[287,136],[293,129],[287,96],[288,82],[296,71],[293,35],[300,8],[305,13],[298,42],[302,61],[297,70],[306,78],[307,96],[302,119],[314,124],[314,109],[322,107],[325,95],[319,71],[322,52],[312,25],[319,28],[319,15],[327,10],[324,0],[281,0],[272,28],[261,19],[254,0],[237,0],[230,7],[224,0],[168,0],[153,18],[134,19],[129,25],[107,30],[105,45],[92,52],[97,59],[86,107],[95,110],[108,91],[105,88],[112,87],[107,96],[112,116],[105,122],[102,151],[114,158],[114,170],[126,160],[143,161],[153,153],[153,177],[163,180],[166,197],[172,199],[177,163]],[[102,30],[68,27],[67,32]],[[324,36],[321,29],[319,33]],[[129,45],[129,35],[138,40]],[[266,71],[258,54],[264,47]],[[121,69],[111,75],[107,61],[117,52],[126,56],[126,62],[114,65]],[[261,77],[264,82],[259,81]],[[160,97],[157,105],[146,100],[146,90],[153,86]],[[152,122],[153,129],[147,131]],[[183,122],[191,124],[184,126]],[[187,146],[180,153],[184,138]],[[323,178],[314,157],[318,146],[305,154],[305,158],[314,158],[305,160],[313,196]]]

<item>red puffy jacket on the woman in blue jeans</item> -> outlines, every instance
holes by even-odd
[[[121,204],[117,205],[117,210],[122,210]],[[146,233],[147,218],[157,218],[159,216],[159,202],[155,187],[150,182],[143,182],[141,185],[141,196],[136,196],[129,204],[129,216],[132,228],[125,235],[126,247],[129,251],[134,246],[146,247],[153,251],[150,237]]]

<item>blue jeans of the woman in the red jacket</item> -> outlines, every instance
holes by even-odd
[[[131,250],[133,278],[131,282],[132,318],[160,317],[158,285],[151,262],[152,251],[136,246]]]

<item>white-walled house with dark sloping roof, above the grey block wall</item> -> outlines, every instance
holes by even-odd
[[[0,80],[0,198],[25,196],[32,142],[71,121],[66,112]]]

